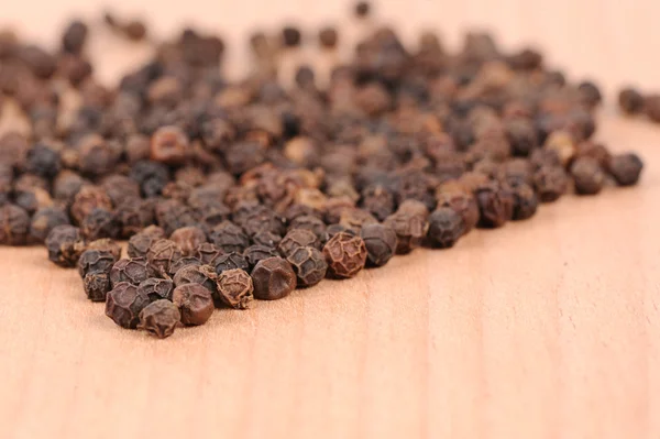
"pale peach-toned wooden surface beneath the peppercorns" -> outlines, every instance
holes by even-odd
[[[270,18],[314,29],[324,11],[210,3],[141,2],[161,33],[198,21],[233,39]],[[331,19],[344,15],[344,2],[324,3]],[[660,90],[658,2],[444,3],[381,12],[406,35],[440,26],[450,43],[487,24],[608,90],[626,78]],[[0,24],[43,40],[98,8],[23,0],[3,6]],[[108,78],[141,56],[103,39],[94,47]],[[217,311],[165,341],[116,327],[43,249],[0,249],[0,438],[660,437],[660,128],[612,105],[601,121],[614,150],[644,156],[639,187],[566,197],[451,251]]]

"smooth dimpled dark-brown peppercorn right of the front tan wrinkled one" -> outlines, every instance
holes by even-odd
[[[254,297],[261,300],[277,300],[296,289],[296,273],[282,257],[260,261],[251,273]]]

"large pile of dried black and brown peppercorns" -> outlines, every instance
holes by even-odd
[[[139,21],[106,22],[146,35]],[[328,87],[300,66],[292,89],[277,70],[306,43],[296,26],[250,39],[244,80],[220,74],[221,39],[187,29],[114,89],[94,79],[88,33],[72,23],[50,53],[0,32],[0,97],[30,122],[0,138],[0,243],[44,243],[117,325],[161,338],[216,307],[451,248],[566,193],[634,185],[642,168],[593,140],[594,84],[484,33],[451,54],[432,33],[409,50],[381,28]],[[332,26],[317,36],[339,44]],[[622,98],[630,112],[638,100]]]

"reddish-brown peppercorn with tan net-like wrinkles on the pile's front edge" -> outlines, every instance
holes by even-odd
[[[338,233],[323,246],[323,255],[331,275],[353,277],[366,263],[366,246],[360,237]]]

